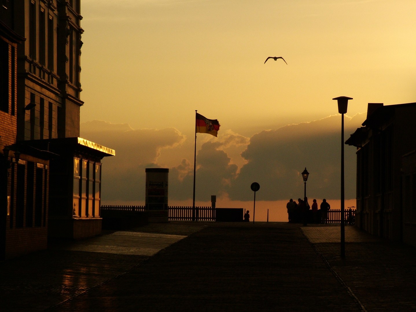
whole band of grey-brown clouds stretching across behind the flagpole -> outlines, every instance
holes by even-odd
[[[361,125],[365,114],[345,117],[345,139]],[[263,130],[246,138],[231,130],[218,138],[202,135],[197,151],[196,199],[210,195],[251,201],[252,182],[260,184],[261,200],[303,196],[300,172],[310,172],[307,196],[338,199],[340,189],[341,116],[333,115],[310,123]],[[116,150],[103,160],[103,200],[144,201],[145,168],[161,167],[158,157],[173,149],[183,150],[185,135],[175,128],[134,130],[128,124],[93,120],[81,125],[87,140]],[[188,145],[189,146],[189,145]],[[355,198],[355,148],[345,145],[345,196]],[[183,151],[189,155],[189,151]],[[165,156],[166,156],[165,155]],[[185,157],[169,172],[169,197],[192,199],[193,159]]]

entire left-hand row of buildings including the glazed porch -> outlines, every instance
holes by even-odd
[[[101,232],[101,160],[115,152],[79,138],[81,20],[79,0],[0,6],[0,258]]]

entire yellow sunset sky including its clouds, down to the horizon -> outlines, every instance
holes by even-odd
[[[339,199],[332,98],[354,98],[346,139],[367,103],[416,101],[415,12],[415,1],[83,0],[81,136],[116,150],[103,204],[144,202],[148,166],[171,169],[170,204],[192,204],[196,109],[221,124],[218,138],[198,134],[199,202],[249,203],[256,180],[272,207],[302,196],[305,166],[311,197]]]

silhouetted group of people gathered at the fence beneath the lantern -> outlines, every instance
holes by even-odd
[[[308,198],[305,197],[302,199],[297,199],[298,202],[290,199],[286,204],[287,214],[289,216],[289,222],[298,223],[303,222],[306,225],[308,222],[313,223],[327,223],[328,221],[328,210],[331,209],[331,206],[327,203],[326,199],[322,200],[320,205],[320,210],[318,211],[318,203],[316,199],[312,202],[312,215],[309,212],[311,206],[308,203]],[[320,214],[319,214],[320,212]]]

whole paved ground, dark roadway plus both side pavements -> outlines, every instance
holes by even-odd
[[[0,263],[4,311],[411,311],[416,250],[346,227],[170,222]]]

